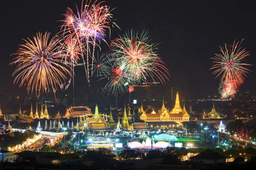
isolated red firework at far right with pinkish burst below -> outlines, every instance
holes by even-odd
[[[246,48],[240,46],[241,42],[235,40],[233,45],[225,44],[225,47],[220,47],[221,53],[211,58],[214,60],[214,65],[210,68],[214,70],[212,74],[221,77],[219,92],[222,98],[234,98],[238,87],[243,84],[250,72],[246,66],[251,64],[242,62],[250,54]]]

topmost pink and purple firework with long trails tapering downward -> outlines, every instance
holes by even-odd
[[[83,52],[81,56],[87,81],[90,83],[90,70],[91,74],[93,74],[93,69],[90,68],[89,62],[92,58],[91,65],[93,65],[95,48],[100,48],[100,41],[105,41],[106,30],[110,30],[110,21],[112,19],[110,7],[102,5],[102,2],[97,2],[97,0],[94,2],[89,0],[85,4],[82,2],[81,9],[77,7],[77,13],[74,13],[71,8],[67,8],[64,18],[60,31],[61,35],[76,38],[81,51],[85,51],[86,58],[84,58]]]

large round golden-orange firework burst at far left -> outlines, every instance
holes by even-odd
[[[27,91],[36,90],[36,95],[46,92],[47,88],[56,91],[57,86],[71,75],[67,66],[61,60],[62,50],[59,50],[60,39],[54,36],[49,39],[50,33],[44,35],[38,32],[33,39],[27,38],[26,43],[20,45],[18,57],[10,64],[17,65],[13,76],[14,83],[20,87],[26,86]]]

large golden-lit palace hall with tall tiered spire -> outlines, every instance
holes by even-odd
[[[141,108],[139,109],[139,112],[141,113],[140,119],[144,120],[145,122],[189,122],[189,114],[187,113],[185,104],[183,109],[180,107],[178,92],[176,94],[174,108],[170,112],[164,106],[164,100],[161,109],[157,112],[154,109],[152,109],[150,113],[146,113],[143,110],[142,105]]]

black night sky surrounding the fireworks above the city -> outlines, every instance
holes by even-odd
[[[4,1],[4,2],[3,2]],[[169,2],[169,3],[167,3]],[[25,37],[36,32],[49,31],[52,35],[59,31],[67,7],[80,7],[81,0],[2,0],[0,36],[0,94],[12,96],[26,94],[26,89],[18,90],[13,85],[11,74],[14,66],[9,66],[11,54],[18,50]],[[200,95],[217,94],[219,80],[211,75],[209,68],[219,45],[245,39],[243,47],[251,52],[247,62],[256,61],[256,11],[253,2],[178,2],[167,0],[107,0],[106,5],[115,8],[113,17],[121,28],[111,31],[110,39],[133,29],[148,29],[152,42],[159,43],[159,56],[170,72],[170,82],[166,86],[177,86],[186,90],[192,83],[200,88]],[[102,48],[102,53],[107,48]],[[241,86],[241,92],[254,92],[255,72],[252,71]],[[86,86],[83,69],[77,70],[76,89]],[[83,84],[84,83],[84,84]],[[100,82],[98,82],[100,83]],[[100,84],[97,84],[100,85]]]

